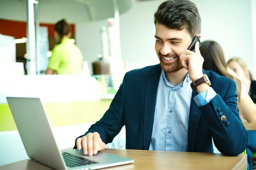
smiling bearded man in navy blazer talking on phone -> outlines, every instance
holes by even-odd
[[[186,50],[195,35],[200,38],[197,7],[168,0],[154,16],[160,64],[126,73],[110,108],[75,148],[97,154],[125,125],[127,149],[213,152],[213,139],[222,154],[240,154],[248,137],[235,82],[202,69],[198,42],[195,52]]]

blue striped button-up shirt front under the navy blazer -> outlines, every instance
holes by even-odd
[[[162,70],[149,150],[187,151],[191,82],[187,74],[184,81],[174,87]]]

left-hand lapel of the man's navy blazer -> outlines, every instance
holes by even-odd
[[[161,67],[158,64],[152,70],[152,77],[148,78],[146,85],[146,99],[145,99],[145,113],[144,113],[144,150],[148,150],[150,146],[154,115],[155,115],[155,103],[157,97],[157,87],[159,83],[159,77],[161,74]]]

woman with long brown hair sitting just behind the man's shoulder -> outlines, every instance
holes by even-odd
[[[242,121],[253,122],[256,121],[256,107],[254,102],[249,97],[245,86],[241,83],[239,77],[230,68],[227,67],[224,52],[220,44],[215,41],[204,41],[200,46],[200,53],[204,57],[203,68],[206,70],[214,71],[218,75],[222,75],[234,80],[237,84],[236,92],[238,94],[238,110]],[[247,131],[248,133],[249,131]],[[249,135],[249,133],[248,133]],[[254,137],[255,138],[255,137]],[[242,140],[242,139],[240,139]],[[249,145],[248,139],[248,145]],[[254,139],[254,147],[255,145]],[[246,151],[248,148],[246,149]],[[252,152],[247,153],[249,169],[252,167]]]

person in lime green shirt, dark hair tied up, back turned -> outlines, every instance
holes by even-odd
[[[45,74],[81,74],[83,55],[70,40],[70,26],[63,19],[54,26],[54,38],[58,43],[52,50],[52,56]]]

